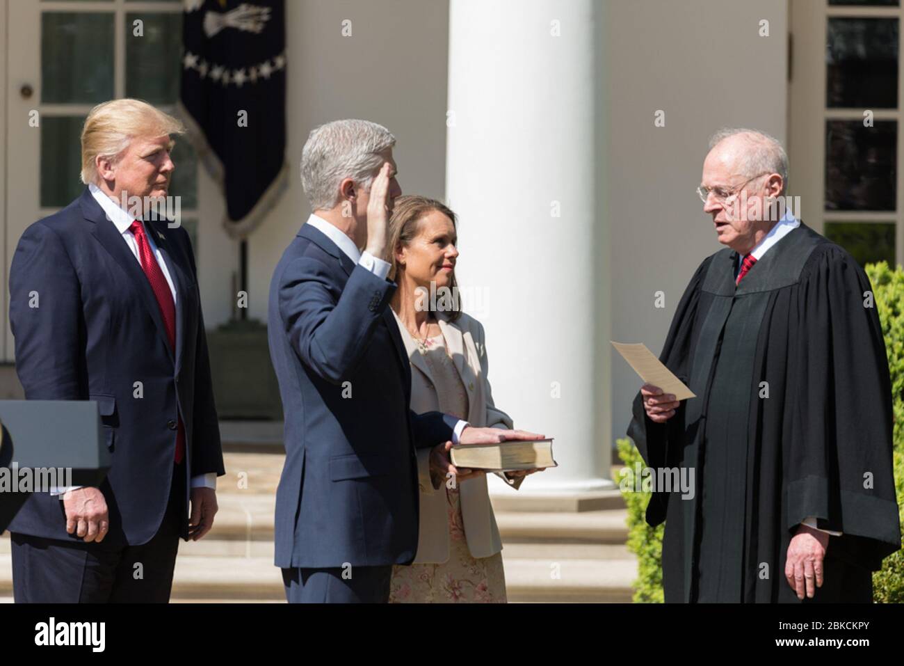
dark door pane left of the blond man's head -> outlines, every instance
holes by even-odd
[[[81,173],[82,116],[41,119],[41,207],[69,205],[85,187]]]

